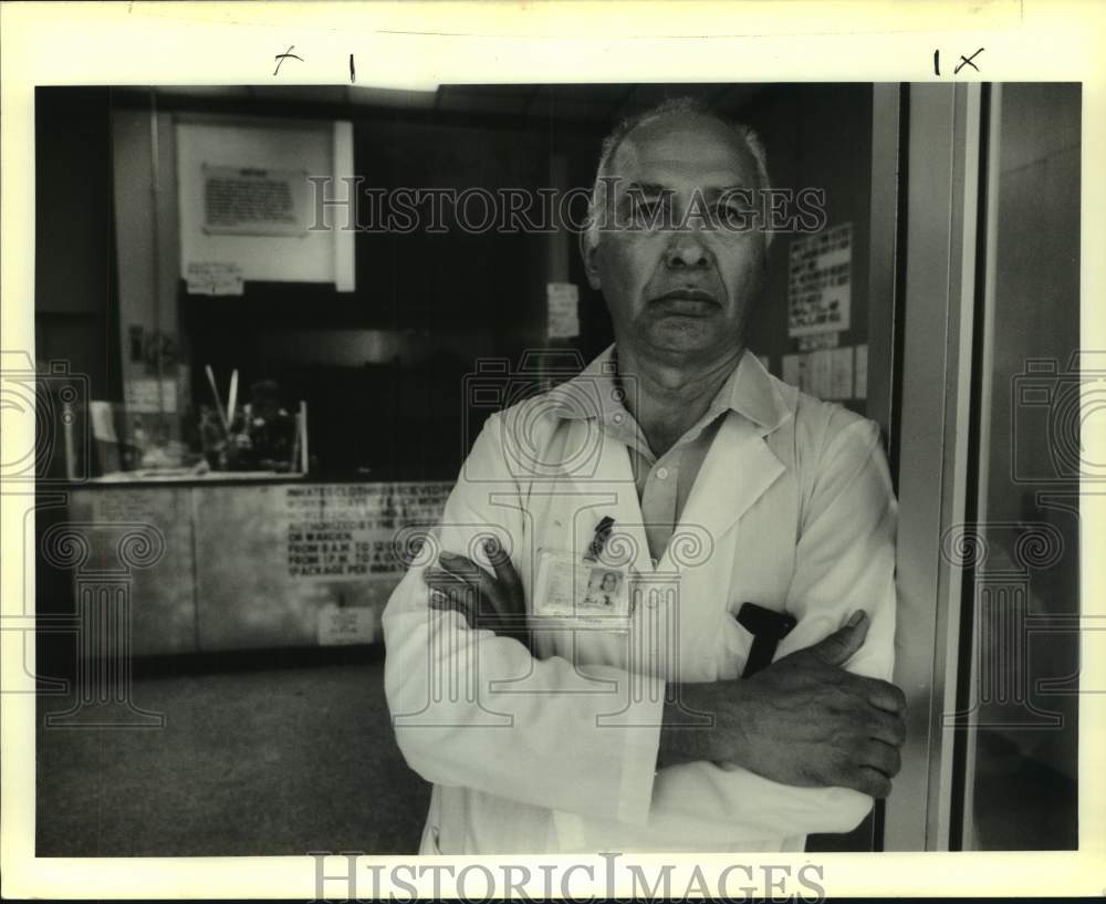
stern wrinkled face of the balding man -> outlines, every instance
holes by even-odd
[[[764,274],[764,233],[734,226],[752,155],[723,124],[676,114],[635,128],[611,169],[608,221],[583,253],[618,341],[671,363],[731,352]]]

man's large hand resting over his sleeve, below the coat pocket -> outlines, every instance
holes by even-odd
[[[666,727],[674,727],[661,734],[662,754],[668,748],[661,759],[735,762],[784,784],[887,797],[901,766],[906,697],[893,684],[842,667],[867,630],[857,613],[825,640],[752,677],[681,685],[690,708],[713,715],[714,725],[680,729],[681,714],[666,710]]]

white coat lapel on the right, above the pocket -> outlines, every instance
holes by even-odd
[[[766,433],[735,413],[723,419],[696,477],[677,534],[706,531],[717,549],[723,534],[779,479],[784,466],[764,441]],[[669,558],[667,551],[665,558]],[[671,565],[680,564],[675,557]]]

